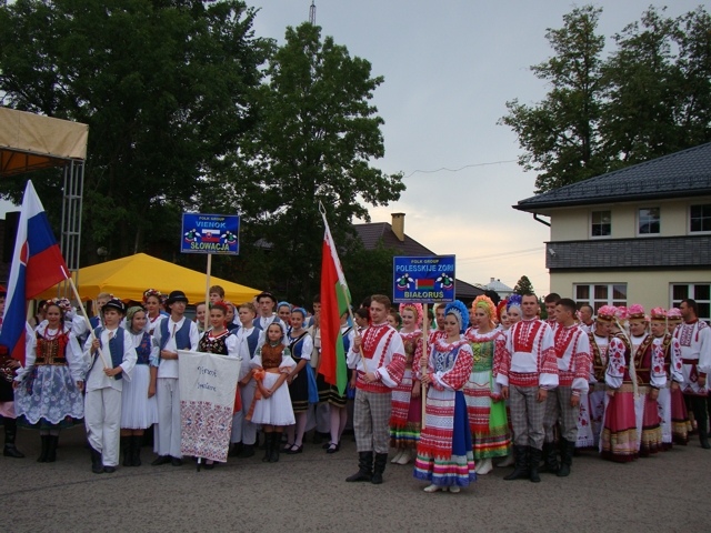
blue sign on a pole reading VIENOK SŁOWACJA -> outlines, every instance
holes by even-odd
[[[236,214],[182,213],[182,253],[240,253],[240,218]]]

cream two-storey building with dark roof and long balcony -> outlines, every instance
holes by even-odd
[[[711,143],[520,201],[550,225],[550,290],[589,303],[711,319]],[[539,215],[550,218],[550,222]]]

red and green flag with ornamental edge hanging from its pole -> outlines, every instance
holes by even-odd
[[[321,261],[321,364],[319,373],[323,374],[327,383],[338,388],[339,394],[343,394],[348,382],[348,370],[341,335],[341,315],[348,311],[351,295],[326,214],[323,214],[323,224],[326,233]]]

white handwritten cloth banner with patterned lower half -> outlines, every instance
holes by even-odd
[[[241,361],[183,350],[178,356],[182,454],[224,463]]]

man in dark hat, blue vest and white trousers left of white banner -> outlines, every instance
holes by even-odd
[[[178,383],[178,350],[198,350],[200,332],[198,325],[186,319],[188,298],[182,291],[172,291],[166,301],[170,316],[162,320],[156,330],[156,342],[160,346],[156,384],[158,402],[158,439],[154,452],[159,455],[151,464],[182,464],[180,451],[180,384]]]

